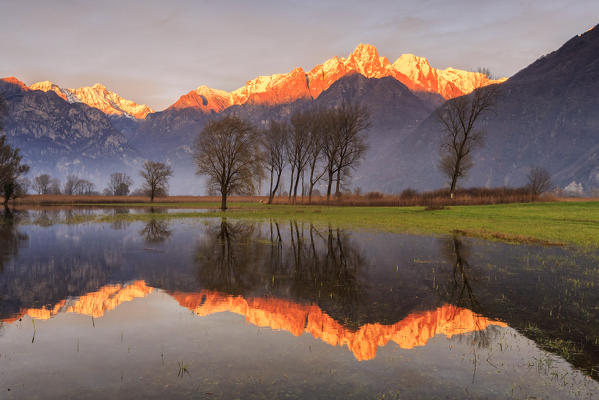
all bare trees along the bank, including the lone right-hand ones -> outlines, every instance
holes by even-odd
[[[484,142],[480,117],[493,110],[499,96],[498,86],[484,86],[484,75],[468,96],[447,101],[436,110],[440,124],[439,169],[449,180],[453,198],[458,182],[472,169],[473,154]],[[0,131],[5,104],[0,97]],[[316,187],[326,187],[327,201],[338,197],[347,187],[352,171],[368,149],[364,132],[370,127],[370,114],[359,104],[342,103],[331,108],[297,111],[285,120],[270,120],[256,127],[236,115],[209,121],[193,144],[197,174],[208,178],[208,194],[221,195],[221,208],[227,208],[230,195],[252,195],[268,182],[268,203],[277,194],[286,194],[295,204],[298,195],[308,202]],[[148,160],[140,171],[142,186],[132,191],[133,179],[124,172],[110,175],[102,193],[93,182],[68,175],[63,185],[48,174],[30,181],[29,166],[22,163],[19,149],[0,136],[0,196],[6,205],[32,188],[38,194],[65,195],[143,195],[153,202],[168,194],[172,168]],[[288,182],[283,182],[284,178]],[[285,189],[284,189],[285,188]],[[288,188],[288,190],[287,190]],[[543,168],[532,168],[527,188],[534,198],[552,188],[551,175]],[[320,193],[320,191],[318,191]]]

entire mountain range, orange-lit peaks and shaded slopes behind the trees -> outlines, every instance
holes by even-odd
[[[352,185],[399,192],[445,184],[436,167],[440,129],[432,112],[468,95],[482,78],[499,85],[501,95],[495,113],[481,121],[487,142],[462,184],[520,185],[530,167],[542,166],[560,186],[575,182],[590,190],[599,186],[598,75],[599,29],[591,29],[510,79],[435,69],[412,54],[391,63],[374,46],[360,44],[347,58],[333,57],[308,72],[259,76],[231,92],[199,86],[157,112],[100,84],[65,89],[5,78],[0,95],[8,103],[9,140],[22,149],[32,174],[75,172],[102,186],[106,163],[137,175],[144,159],[161,159],[175,169],[172,192],[189,193],[193,179],[194,194],[203,188],[190,149],[209,119],[236,114],[260,126],[315,105],[360,102],[371,112],[370,149]]]

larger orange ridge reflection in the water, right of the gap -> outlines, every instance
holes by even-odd
[[[452,337],[481,331],[489,325],[507,326],[468,309],[446,304],[436,310],[410,314],[393,325],[365,324],[354,331],[335,321],[317,305],[275,298],[245,299],[214,291],[174,292],[171,295],[199,316],[228,311],[245,316],[246,321],[256,326],[288,331],[295,336],[310,333],[331,346],[347,346],[360,361],[374,359],[377,348],[389,341],[403,349],[411,349],[426,345],[435,335]]]

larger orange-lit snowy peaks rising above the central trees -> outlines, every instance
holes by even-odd
[[[276,105],[298,99],[315,99],[343,76],[359,73],[367,78],[391,76],[414,92],[428,92],[445,99],[470,93],[475,82],[499,83],[506,79],[491,80],[477,72],[454,68],[438,70],[426,58],[403,54],[393,64],[381,57],[377,49],[360,44],[347,57],[333,57],[305,72],[296,68],[287,74],[259,76],[233,92],[200,86],[181,96],[170,109],[196,108],[206,112],[220,112],[240,104]]]

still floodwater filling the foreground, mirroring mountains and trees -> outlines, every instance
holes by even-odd
[[[94,213],[0,218],[1,399],[599,396],[597,252]]]

